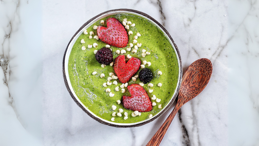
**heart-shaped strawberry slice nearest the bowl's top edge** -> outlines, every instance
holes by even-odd
[[[107,28],[98,26],[97,35],[101,41],[114,47],[123,48],[128,44],[128,34],[119,20],[106,19]]]

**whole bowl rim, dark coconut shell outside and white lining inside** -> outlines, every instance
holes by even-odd
[[[178,82],[177,82],[177,87],[175,89],[175,92],[172,96],[172,98],[169,100],[169,103],[167,102],[167,105],[159,111],[158,114],[154,115],[151,118],[148,118],[146,120],[140,121],[140,122],[136,122],[136,123],[115,123],[112,121],[107,121],[104,120],[100,117],[98,117],[97,115],[93,114],[89,109],[87,109],[83,103],[77,98],[76,94],[74,93],[72,86],[70,84],[70,80],[68,77],[68,58],[71,52],[71,48],[73,47],[75,40],[80,36],[80,34],[83,33],[83,29],[88,28],[89,26],[91,26],[93,23],[97,22],[99,19],[107,17],[109,15],[114,15],[114,14],[118,14],[118,13],[128,13],[128,14],[134,14],[134,15],[139,15],[141,17],[144,17],[146,19],[149,19],[150,22],[154,23],[157,27],[159,27],[165,34],[166,37],[168,38],[169,42],[171,43],[171,45],[173,46],[175,52],[176,52],[176,56],[178,59],[178,66],[179,66],[179,75],[178,75]],[[86,27],[87,26],[87,27]],[[70,49],[70,50],[69,50]],[[69,52],[68,52],[69,51]],[[67,53],[68,52],[68,53]],[[74,34],[74,36],[70,39],[67,48],[65,50],[64,53],[64,57],[63,57],[63,79],[65,82],[65,85],[67,87],[67,90],[69,92],[69,94],[71,95],[71,97],[73,98],[73,100],[76,102],[76,104],[85,112],[87,113],[90,117],[92,117],[93,119],[95,119],[96,121],[105,124],[105,125],[109,125],[109,126],[113,126],[113,127],[119,127],[119,128],[128,128],[128,127],[138,127],[138,126],[142,126],[144,124],[147,124],[151,121],[154,121],[157,117],[161,116],[164,112],[166,112],[166,110],[172,105],[172,103],[175,101],[179,89],[180,89],[180,85],[182,82],[182,76],[183,76],[183,69],[182,69],[182,60],[181,60],[181,56],[178,50],[178,47],[176,46],[176,44],[174,43],[174,40],[172,39],[172,37],[170,36],[170,34],[168,33],[168,31],[159,23],[157,22],[154,18],[152,18],[151,16],[147,15],[146,13],[140,12],[140,11],[136,11],[136,10],[132,10],[132,9],[114,9],[114,10],[109,10],[109,11],[105,11],[103,13],[100,13],[99,15],[91,18],[90,20],[88,20],[86,23],[84,23],[78,30],[77,32]],[[66,74],[67,72],[67,74]]]

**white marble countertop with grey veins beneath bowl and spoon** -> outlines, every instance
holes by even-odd
[[[107,10],[127,8],[161,23],[183,70],[208,58],[207,87],[186,103],[161,145],[259,145],[259,2],[0,0],[0,145],[146,145],[175,104],[135,128],[98,123],[76,105],[62,76],[74,33]]]

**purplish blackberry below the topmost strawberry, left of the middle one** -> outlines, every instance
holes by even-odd
[[[108,65],[112,62],[113,60],[113,54],[112,51],[108,48],[101,48],[100,50],[97,51],[95,54],[95,59],[100,63],[100,64],[105,64]]]

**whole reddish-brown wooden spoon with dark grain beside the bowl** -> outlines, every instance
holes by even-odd
[[[158,129],[146,146],[158,146],[178,110],[188,101],[196,97],[208,84],[212,73],[212,64],[209,59],[202,58],[194,61],[185,71],[179,90],[178,100],[174,110]]]

